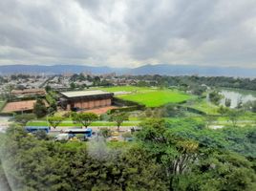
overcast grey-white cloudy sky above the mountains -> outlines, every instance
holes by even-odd
[[[0,65],[72,63],[256,68],[256,1],[0,1]]]

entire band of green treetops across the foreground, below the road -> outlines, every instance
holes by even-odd
[[[192,119],[140,126],[136,142],[109,146],[101,139],[53,142],[14,126],[0,138],[2,164],[13,190],[255,188],[256,127],[211,130]],[[108,130],[101,134],[109,137]]]

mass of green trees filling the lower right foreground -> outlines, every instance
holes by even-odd
[[[192,120],[171,124],[150,120],[142,126],[138,138],[143,148],[165,168],[170,190],[254,188],[254,164],[245,156],[255,162],[255,140],[250,136],[255,127],[214,131]],[[230,132],[234,134],[232,139]]]

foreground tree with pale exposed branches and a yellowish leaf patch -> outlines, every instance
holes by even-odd
[[[181,125],[180,123],[179,126]],[[164,167],[169,189],[172,190],[175,177],[189,171],[189,164],[197,159],[199,143],[181,138],[177,135],[176,128],[167,128],[168,124],[163,119],[145,121],[141,127],[137,138],[143,142],[144,149]]]

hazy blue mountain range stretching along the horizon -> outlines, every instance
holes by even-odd
[[[144,65],[138,68],[111,68],[111,67],[93,67],[86,65],[5,65],[0,66],[0,74],[65,74],[91,72],[92,74],[166,74],[166,75],[205,75],[205,76],[241,76],[256,77],[256,68],[238,68],[238,67],[208,67],[193,65]]]

